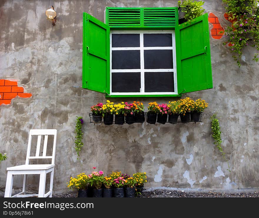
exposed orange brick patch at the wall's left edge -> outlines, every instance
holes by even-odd
[[[0,106],[9,105],[16,96],[30,98],[31,93],[24,93],[23,87],[18,87],[17,81],[0,80]]]

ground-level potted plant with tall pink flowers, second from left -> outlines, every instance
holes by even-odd
[[[96,169],[96,167],[93,167],[93,169]],[[88,178],[89,184],[93,188],[93,197],[102,197],[103,171],[93,171],[88,175]]]

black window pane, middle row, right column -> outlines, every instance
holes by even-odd
[[[144,50],[145,69],[172,69],[172,50]]]

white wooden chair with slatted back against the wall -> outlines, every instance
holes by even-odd
[[[30,156],[32,135],[38,135],[35,156]],[[44,137],[43,153],[42,153],[42,156],[39,156],[40,145],[41,145],[41,135],[45,135],[45,137]],[[52,156],[46,156],[48,135],[54,135]],[[29,197],[29,196],[34,196],[35,194],[25,194],[26,175],[27,174],[39,174],[40,175],[38,197],[47,197],[47,196],[52,197],[56,141],[57,141],[57,130],[55,130],[55,129],[30,130],[25,165],[19,165],[19,166],[7,167],[6,168],[6,170],[8,170],[8,172],[7,172],[7,179],[6,179],[6,187],[5,187],[4,197]],[[48,147],[50,147],[50,146],[48,146]],[[47,158],[52,159],[51,164],[29,164],[30,159],[47,159]],[[46,175],[49,172],[51,173],[50,174],[50,188],[49,188],[49,192],[47,192],[45,194]],[[22,187],[22,192],[20,192],[19,194],[15,194],[15,195],[11,196],[12,195],[12,186],[13,186],[14,175],[24,175],[23,187]]]

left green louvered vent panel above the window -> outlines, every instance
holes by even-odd
[[[140,26],[140,9],[108,8],[109,26]]]

